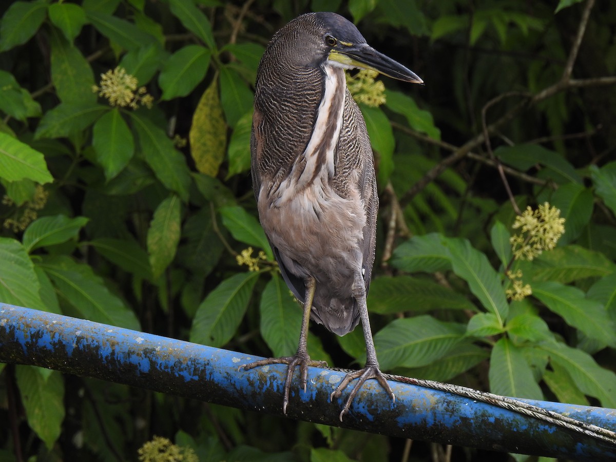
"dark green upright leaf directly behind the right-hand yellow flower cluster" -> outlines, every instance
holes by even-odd
[[[593,214],[593,193],[579,183],[567,183],[554,191],[550,205],[559,209],[565,219],[565,233],[558,245],[566,245],[580,237],[588,225]]]

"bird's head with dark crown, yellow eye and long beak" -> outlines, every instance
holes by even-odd
[[[278,31],[270,49],[282,62],[299,67],[370,69],[394,79],[423,83],[413,71],[376,51],[357,27],[335,13],[309,13]]]

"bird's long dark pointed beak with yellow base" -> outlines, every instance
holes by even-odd
[[[343,67],[370,69],[405,82],[423,83],[416,73],[365,43],[339,44],[330,51],[329,59]]]

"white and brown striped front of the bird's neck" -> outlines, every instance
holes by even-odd
[[[290,199],[291,194],[312,184],[322,184],[334,176],[336,147],[342,128],[346,80],[341,68],[323,66],[323,98],[318,106],[317,119],[304,152],[296,158],[290,175],[283,180],[273,193],[274,205]],[[315,182],[319,176],[322,181]]]

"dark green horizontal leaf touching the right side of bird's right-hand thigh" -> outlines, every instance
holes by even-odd
[[[466,297],[436,282],[402,275],[373,279],[368,293],[368,307],[371,313],[379,314],[423,313],[441,309],[477,310]]]

